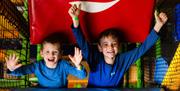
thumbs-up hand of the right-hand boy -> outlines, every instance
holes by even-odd
[[[157,11],[154,12],[154,17],[156,19],[156,24],[154,26],[154,30],[158,33],[161,27],[167,22],[168,18],[167,15],[163,12],[157,15]]]

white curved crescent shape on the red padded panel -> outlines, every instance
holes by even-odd
[[[97,12],[101,12],[104,11],[110,7],[112,7],[113,5],[115,5],[117,2],[119,2],[120,0],[113,0],[111,2],[91,2],[91,1],[73,1],[73,2],[69,2],[69,4],[73,5],[79,5],[81,4],[81,10],[85,11],[85,12],[89,12],[89,13],[97,13]]]

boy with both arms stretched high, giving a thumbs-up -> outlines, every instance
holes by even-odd
[[[90,66],[89,87],[118,87],[121,78],[131,64],[156,43],[159,38],[157,33],[167,21],[165,13],[157,15],[155,12],[156,24],[142,45],[120,54],[120,35],[116,31],[110,29],[100,34],[97,51],[89,46],[82,35],[78,20],[80,7],[72,5],[68,13],[73,21],[72,31],[76,41]]]

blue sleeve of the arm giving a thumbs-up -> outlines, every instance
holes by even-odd
[[[123,58],[123,66],[125,68],[129,68],[131,64],[133,64],[137,59],[139,59],[148,49],[150,49],[158,40],[159,36],[155,32],[154,29],[151,30],[150,34],[147,36],[146,40],[141,44],[141,46],[123,53],[119,54],[118,57]],[[118,60],[120,61],[120,60]]]

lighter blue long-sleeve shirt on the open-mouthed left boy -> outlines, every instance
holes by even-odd
[[[56,68],[48,68],[44,61],[40,61],[22,66],[8,73],[15,76],[34,73],[38,78],[39,85],[48,88],[67,87],[68,74],[72,74],[80,79],[86,77],[84,67],[82,67],[82,70],[78,70],[65,60],[59,60]]]

